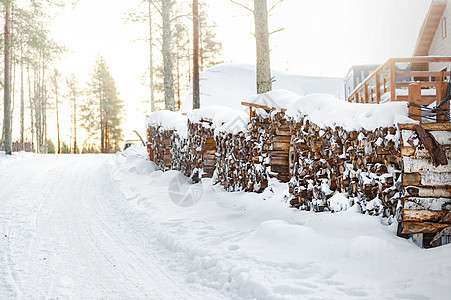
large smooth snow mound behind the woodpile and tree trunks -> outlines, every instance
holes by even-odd
[[[286,89],[298,95],[312,93],[331,94],[344,99],[342,78],[301,76],[272,70],[273,89]],[[224,63],[208,68],[200,74],[200,106],[223,105],[242,110],[241,101],[256,93],[255,66]],[[188,112],[193,107],[193,91],[190,86],[180,109]]]

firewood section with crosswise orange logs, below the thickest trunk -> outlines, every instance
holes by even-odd
[[[285,114],[259,108],[254,115],[250,126],[254,162],[262,163],[271,177],[288,182],[291,135]]]

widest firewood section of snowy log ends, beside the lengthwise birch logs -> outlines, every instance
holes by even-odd
[[[290,122],[291,204],[314,211],[331,207],[335,191],[358,203],[362,212],[394,216],[402,192],[402,160],[396,127],[373,131],[321,128],[305,118]],[[353,203],[354,202],[354,203]]]

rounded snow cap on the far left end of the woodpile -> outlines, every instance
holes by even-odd
[[[163,130],[175,130],[181,137],[188,135],[186,116],[170,110],[150,113],[147,116],[147,126],[161,126]]]

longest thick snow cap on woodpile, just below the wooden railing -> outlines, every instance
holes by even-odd
[[[375,130],[416,122],[408,117],[407,102],[350,103],[327,94],[301,96],[288,107],[285,115],[295,121],[305,117],[320,127],[341,126],[346,130]]]

